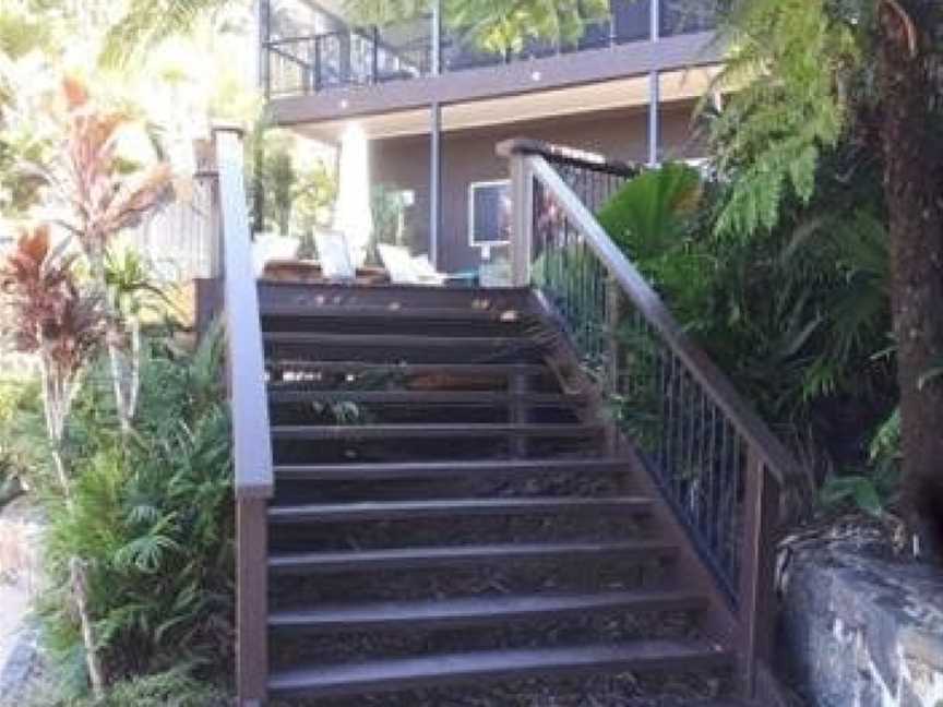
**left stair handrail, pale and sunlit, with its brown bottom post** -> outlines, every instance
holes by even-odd
[[[232,418],[236,492],[236,680],[240,707],[264,703],[267,657],[267,524],[272,442],[259,292],[252,269],[241,131],[214,130],[218,189],[216,257]]]

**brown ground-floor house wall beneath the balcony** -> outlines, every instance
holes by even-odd
[[[663,111],[664,156],[696,157],[690,135],[690,107]],[[439,268],[455,272],[477,267],[480,251],[468,244],[468,185],[475,181],[504,179],[506,163],[494,146],[510,137],[533,137],[580,147],[623,160],[647,158],[647,112],[617,110],[500,128],[446,133],[442,140],[442,233]],[[374,183],[411,189],[416,203],[408,226],[417,252],[429,250],[429,137],[428,135],[378,140],[371,143]]]

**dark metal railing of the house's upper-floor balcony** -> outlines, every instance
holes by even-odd
[[[715,26],[716,0],[613,0],[607,19],[587,23],[575,43],[533,39],[516,51],[481,49],[461,31],[443,31],[442,73],[602,49],[653,38],[652,2],[658,5],[658,36],[704,32]],[[270,36],[262,47],[263,81],[270,97],[317,94],[337,87],[385,84],[427,76],[433,65],[431,21],[410,25],[347,28],[308,36]]]

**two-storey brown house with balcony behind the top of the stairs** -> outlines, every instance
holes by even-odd
[[[334,145],[357,127],[397,239],[439,269],[506,256],[503,140],[648,164],[701,156],[692,108],[721,57],[711,0],[611,0],[575,43],[503,52],[431,10],[358,27],[344,0],[263,0],[260,76],[273,124]]]

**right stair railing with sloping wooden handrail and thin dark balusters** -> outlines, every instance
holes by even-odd
[[[562,320],[621,439],[716,578],[753,696],[773,637],[779,494],[797,466],[597,221],[637,168],[529,140],[498,154],[510,160],[514,284]]]

